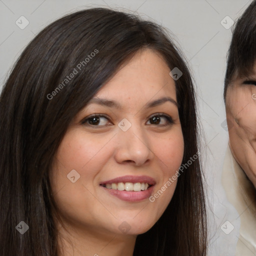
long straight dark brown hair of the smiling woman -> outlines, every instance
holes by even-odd
[[[182,164],[196,154],[191,76],[161,26],[106,8],[81,10],[56,20],[24,49],[0,96],[0,255],[58,255],[48,178],[56,149],[76,113],[143,47],[159,52],[170,70],[178,67],[183,73],[175,81],[184,138]],[[85,64],[93,51],[96,55]],[[82,61],[79,72],[57,90]],[[29,226],[23,235],[15,229],[21,220]],[[133,255],[205,254],[205,204],[197,158],[180,174],[160,219],[137,236]]]

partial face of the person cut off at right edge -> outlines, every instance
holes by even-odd
[[[233,156],[256,187],[256,65],[253,70],[228,86],[226,118]]]

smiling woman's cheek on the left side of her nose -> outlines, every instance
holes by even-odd
[[[93,185],[94,177],[110,157],[111,152],[105,150],[104,145],[107,145],[111,137],[108,134],[95,139],[80,132],[67,132],[52,166],[50,180],[53,192],[58,193],[61,189],[68,191],[67,196],[71,193],[77,196],[84,194],[84,186]]]

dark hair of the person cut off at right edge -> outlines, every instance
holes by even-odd
[[[236,21],[227,54],[224,99],[234,74],[248,76],[253,70],[256,59],[256,0]]]

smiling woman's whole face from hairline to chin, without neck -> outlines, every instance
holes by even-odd
[[[50,175],[65,225],[136,235],[161,216],[183,156],[169,72],[158,53],[138,51],[74,117]]]

